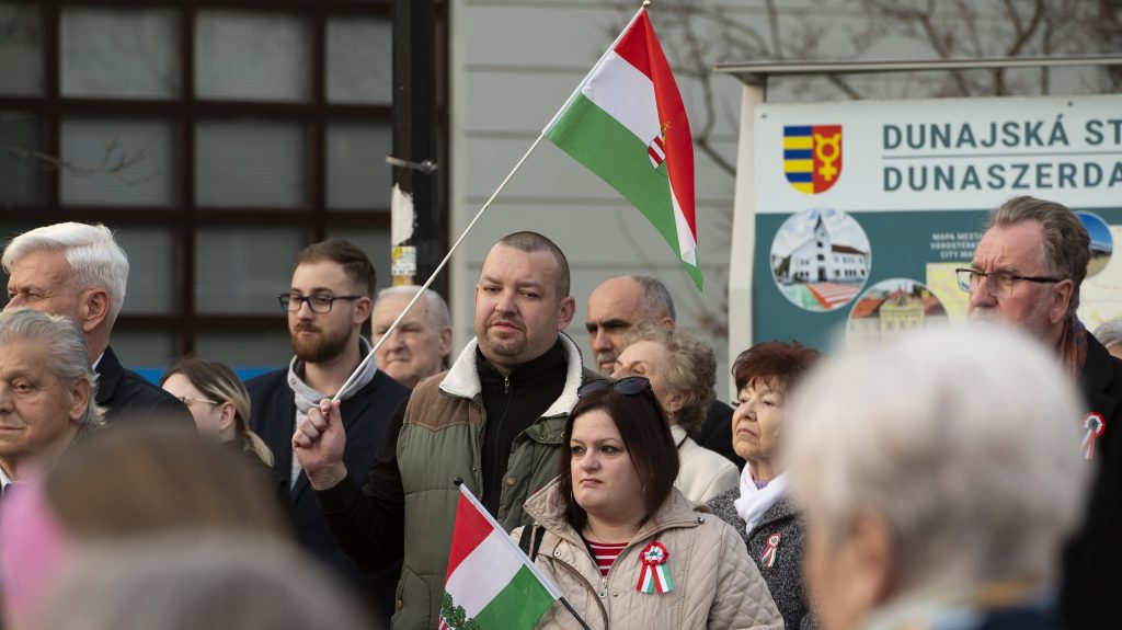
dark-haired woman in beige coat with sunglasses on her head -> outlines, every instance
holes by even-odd
[[[516,529],[592,628],[782,628],[733,528],[673,488],[678,453],[650,381],[592,381],[565,423],[561,474]],[[651,421],[651,418],[659,421]],[[577,628],[551,609],[539,628]]]

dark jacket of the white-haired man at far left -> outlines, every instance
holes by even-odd
[[[107,409],[107,424],[122,418],[169,418],[194,426],[195,420],[186,405],[121,365],[112,348],[105,348],[94,371],[98,372],[98,396],[94,400]]]

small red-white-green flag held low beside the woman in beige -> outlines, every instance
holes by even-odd
[[[440,630],[531,629],[560,597],[461,483]]]

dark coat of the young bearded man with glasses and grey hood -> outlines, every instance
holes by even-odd
[[[288,369],[261,374],[246,382],[252,401],[250,427],[273,451],[273,469],[282,479],[292,474],[292,434],[296,430],[296,398],[288,387]],[[347,447],[343,463],[349,471],[366,471],[374,463],[389,418],[410,390],[380,370],[374,379],[340,407]],[[313,555],[333,566],[356,589],[388,628],[394,590],[401,565],[374,574],[364,573],[335,544],[303,472],[292,488],[296,509],[296,538]]]

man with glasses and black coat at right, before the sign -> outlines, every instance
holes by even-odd
[[[990,214],[971,268],[957,270],[971,319],[1040,340],[1083,392],[1083,418],[1056,418],[1079,423],[1095,471],[1085,521],[1064,554],[1060,613],[1077,629],[1122,627],[1122,361],[1075,314],[1089,258],[1091,239],[1072,211],[1024,196]]]

